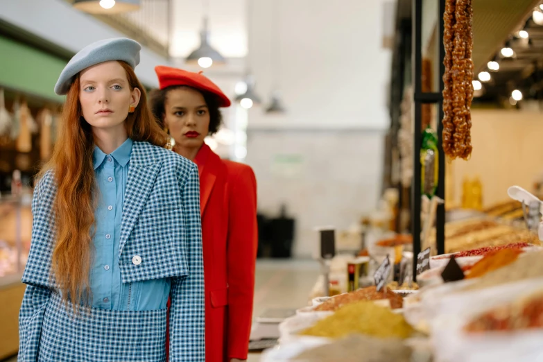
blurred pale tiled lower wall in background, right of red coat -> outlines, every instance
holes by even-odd
[[[318,251],[316,226],[345,229],[377,206],[383,140],[377,130],[248,131],[259,211],[274,216],[287,206],[297,222],[295,256]]]

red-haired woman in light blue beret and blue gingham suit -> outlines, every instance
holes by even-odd
[[[33,198],[19,361],[205,361],[196,165],[164,146],[134,68],[141,46],[77,53]]]

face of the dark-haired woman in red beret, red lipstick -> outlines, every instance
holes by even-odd
[[[202,146],[209,133],[209,110],[200,92],[189,87],[171,89],[166,94],[164,112],[164,123],[176,147]]]

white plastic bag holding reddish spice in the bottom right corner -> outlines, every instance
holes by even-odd
[[[543,361],[543,329],[468,334],[463,331],[479,314],[515,302],[543,288],[543,278],[525,279],[434,299],[430,320],[436,362]]]

